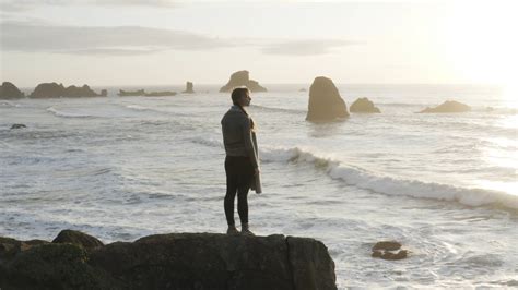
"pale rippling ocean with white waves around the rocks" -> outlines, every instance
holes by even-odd
[[[518,111],[502,89],[338,85],[348,108],[368,97],[381,113],[310,123],[307,84],[266,86],[248,109],[263,182],[249,194],[256,234],[322,241],[339,289],[518,287]],[[76,229],[108,243],[225,232],[220,120],[229,94],[106,88],[106,98],[0,100],[0,235]],[[472,111],[415,113],[445,100]],[[410,256],[370,257],[382,240]]]

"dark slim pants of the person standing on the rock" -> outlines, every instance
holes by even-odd
[[[237,193],[237,213],[243,223],[248,223],[248,190],[255,170],[248,157],[227,156],[225,158],[226,195],[225,216],[228,226],[234,226],[234,200]]]

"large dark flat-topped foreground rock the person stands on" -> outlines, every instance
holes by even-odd
[[[307,238],[172,233],[90,249],[81,239],[24,243],[0,238],[1,289],[337,289],[327,247]]]

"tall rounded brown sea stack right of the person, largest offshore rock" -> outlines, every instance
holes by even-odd
[[[345,101],[332,80],[318,76],[309,88],[309,104],[306,120],[332,121],[349,117]]]

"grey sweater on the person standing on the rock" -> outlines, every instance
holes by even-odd
[[[223,144],[227,156],[249,157],[254,168],[259,168],[257,138],[250,130],[250,117],[239,107],[232,106],[221,120]]]

